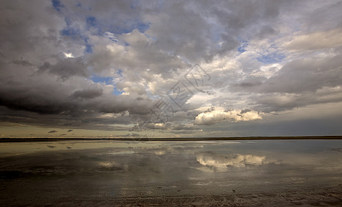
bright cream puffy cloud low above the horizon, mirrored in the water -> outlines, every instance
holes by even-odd
[[[197,125],[211,125],[221,121],[252,121],[262,119],[257,111],[252,110],[212,110],[209,112],[202,112],[194,120]]]

